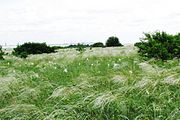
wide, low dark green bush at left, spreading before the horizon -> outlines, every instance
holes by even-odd
[[[26,58],[30,54],[42,54],[55,52],[55,48],[47,46],[46,43],[24,43],[14,48],[15,56]]]

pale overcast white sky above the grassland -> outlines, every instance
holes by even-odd
[[[143,32],[180,32],[179,0],[0,0],[0,44],[134,43]]]

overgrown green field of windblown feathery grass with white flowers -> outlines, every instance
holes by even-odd
[[[180,61],[132,46],[0,61],[0,120],[178,120]]]

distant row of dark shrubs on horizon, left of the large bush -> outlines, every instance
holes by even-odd
[[[85,48],[89,47],[92,49],[92,47],[112,47],[112,46],[123,46],[117,37],[109,37],[109,39],[106,41],[106,44],[104,45],[101,42],[94,43],[92,45],[89,44],[73,44],[69,46],[48,46],[46,43],[33,43],[28,42],[24,43],[22,45],[17,45],[16,48],[13,49],[12,54],[21,57],[26,58],[30,54],[42,54],[42,53],[54,53],[57,49],[66,49],[66,48],[76,48],[77,51],[80,53],[85,51]],[[4,52],[2,50],[2,46],[0,47],[0,59],[3,59]]]

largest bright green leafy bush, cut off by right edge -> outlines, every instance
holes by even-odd
[[[145,37],[135,46],[141,56],[168,60],[180,58],[180,33],[170,35],[166,32],[144,33]]]

